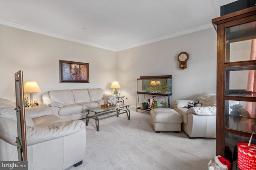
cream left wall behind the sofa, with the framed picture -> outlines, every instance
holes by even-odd
[[[59,60],[89,63],[89,83],[60,83]],[[0,25],[0,98],[15,102],[14,73],[23,70],[24,83],[36,81],[42,92],[49,90],[110,89],[116,80],[116,53],[63,39]],[[28,94],[30,99],[30,94]]]

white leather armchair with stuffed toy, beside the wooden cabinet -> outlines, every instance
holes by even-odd
[[[190,107],[195,100],[176,100],[174,109],[183,117],[182,130],[190,139],[216,138],[216,94],[204,92],[197,98],[201,107]]]

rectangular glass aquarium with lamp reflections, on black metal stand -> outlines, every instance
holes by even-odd
[[[172,76],[141,76],[137,79],[137,92],[172,94]]]

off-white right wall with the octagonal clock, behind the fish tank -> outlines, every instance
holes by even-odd
[[[172,75],[172,102],[216,93],[216,36],[210,28],[117,52],[117,80],[121,94],[128,96],[125,102],[136,105],[140,76]],[[188,68],[181,70],[177,56],[183,51],[189,59]],[[157,101],[164,99],[156,96]]]

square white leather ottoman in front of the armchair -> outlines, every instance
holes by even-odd
[[[174,133],[180,133],[183,118],[182,115],[174,109],[151,109],[150,115],[156,133],[160,133],[160,131],[174,131]]]

